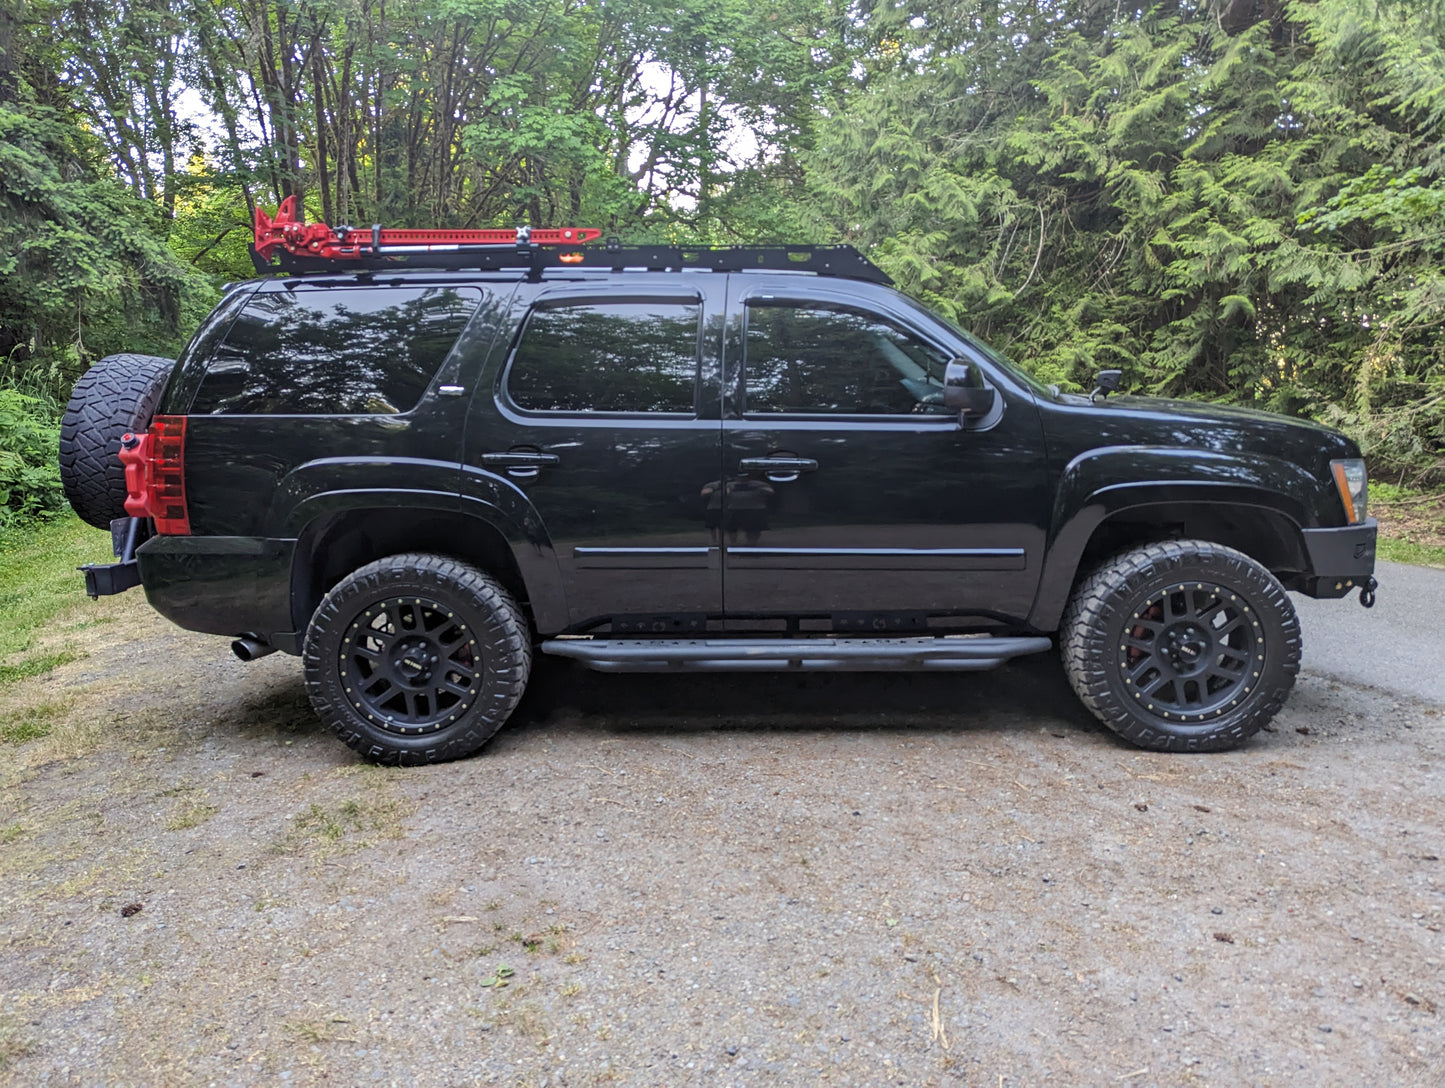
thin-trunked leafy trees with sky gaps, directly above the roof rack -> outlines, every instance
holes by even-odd
[[[811,124],[848,59],[835,3],[146,0],[110,20],[95,17],[107,4],[72,16],[101,45],[72,48],[68,65],[110,85],[134,27],[184,10],[191,32],[155,58],[214,110],[223,134],[207,160],[247,214],[302,194],[329,223],[585,220],[696,236],[720,230],[711,202],[750,153],[785,160]],[[171,143],[194,139],[175,88],[152,71],[133,82]],[[162,189],[168,210],[184,201],[178,185],[144,181],[137,126],[114,121],[127,103],[88,103],[121,176],[142,195]]]

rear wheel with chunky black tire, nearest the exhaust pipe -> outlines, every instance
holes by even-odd
[[[441,763],[477,751],[507,721],[532,639],[491,575],[439,555],[393,555],[331,588],[302,660],[311,705],[366,759]]]

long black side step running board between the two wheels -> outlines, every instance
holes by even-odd
[[[1043,653],[1042,637],[993,639],[549,639],[542,653],[598,672],[835,669],[932,672],[993,669],[1010,657]]]

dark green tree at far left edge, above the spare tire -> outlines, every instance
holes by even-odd
[[[162,205],[127,188],[107,160],[104,129],[85,116],[97,98],[61,78],[59,25],[81,10],[90,9],[0,12],[0,358],[13,381],[59,400],[98,355],[173,353],[214,301],[168,249]],[[114,126],[155,131],[134,116],[144,101],[127,108],[110,117]]]

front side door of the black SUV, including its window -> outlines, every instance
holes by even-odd
[[[1048,481],[1032,394],[964,426],[942,379],[967,344],[886,288],[734,275],[720,543],[730,620],[824,614],[907,630],[1023,617]],[[853,616],[847,616],[853,614]]]

